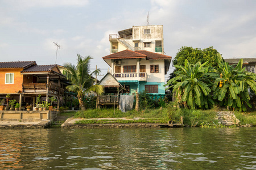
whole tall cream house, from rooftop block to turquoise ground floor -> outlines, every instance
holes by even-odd
[[[133,26],[109,35],[110,55],[102,57],[129,94],[165,94],[164,75],[171,56],[164,55],[163,25]]]

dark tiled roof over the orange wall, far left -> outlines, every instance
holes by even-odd
[[[27,68],[31,65],[36,65],[35,61],[10,61],[0,62],[0,69]]]

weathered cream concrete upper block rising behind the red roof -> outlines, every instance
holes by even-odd
[[[147,50],[164,54],[163,25],[133,26],[109,35],[110,54],[122,50]]]

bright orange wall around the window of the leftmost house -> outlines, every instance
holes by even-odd
[[[20,71],[23,69],[0,69],[0,94],[12,94],[19,90],[22,91],[23,75]],[[5,84],[5,74],[14,73],[14,83]]]

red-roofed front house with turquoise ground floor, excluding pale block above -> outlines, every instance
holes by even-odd
[[[123,50],[102,57],[110,66],[110,73],[130,91],[145,90],[150,94],[165,94],[164,75],[170,67],[171,56],[146,50]]]

